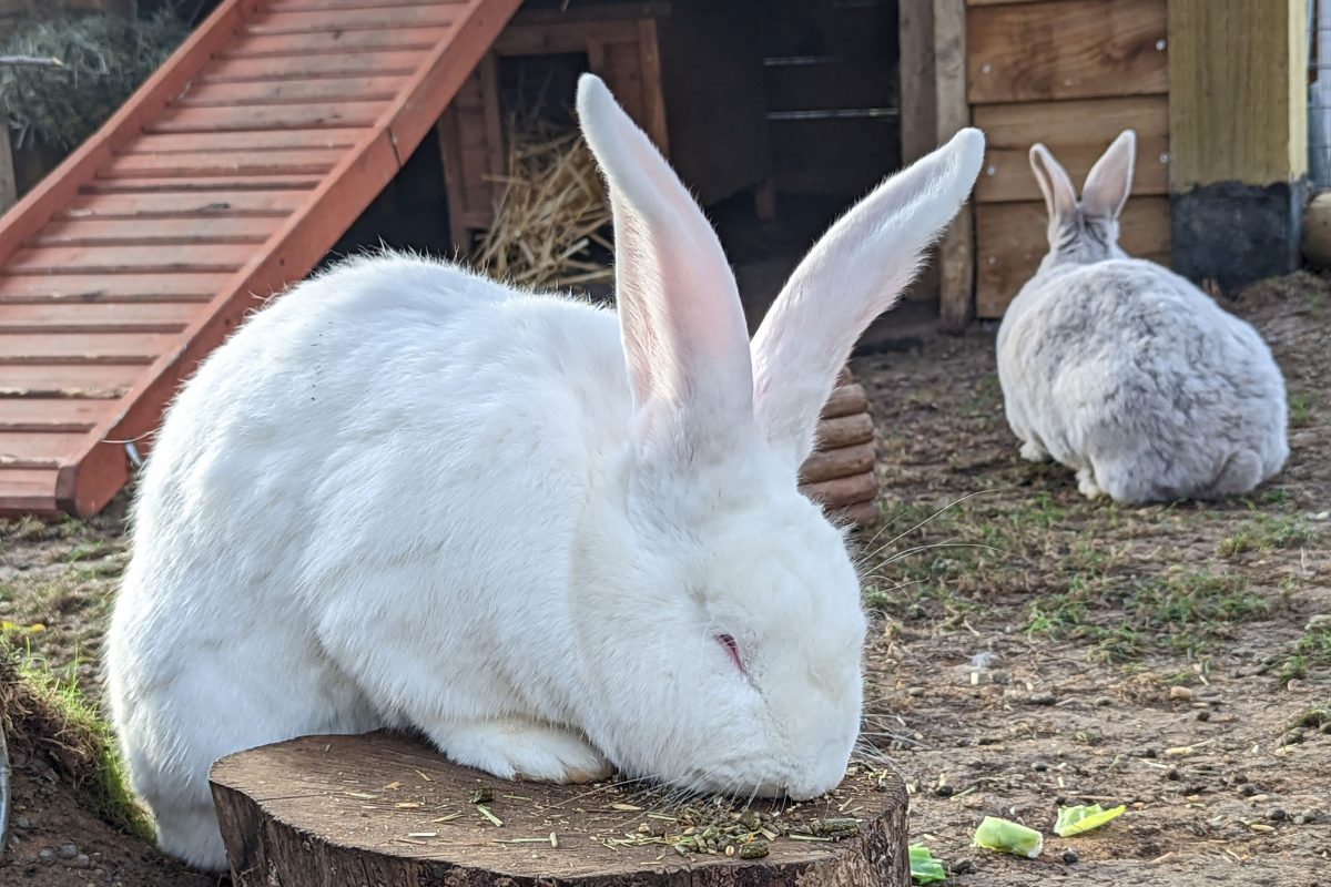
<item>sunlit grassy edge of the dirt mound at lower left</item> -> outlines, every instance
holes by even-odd
[[[12,686],[0,698],[5,702],[5,717],[21,717],[37,725],[41,741],[59,743],[61,758],[73,762],[65,767],[67,775],[76,787],[89,791],[106,822],[152,840],[152,819],[129,791],[110,725],[79,689],[75,665],[51,672],[45,662],[4,638],[0,638],[0,657],[4,669],[12,673],[4,676]]]

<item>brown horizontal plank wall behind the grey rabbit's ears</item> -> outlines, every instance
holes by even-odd
[[[1129,254],[1169,263],[1166,0],[966,0],[966,98],[988,156],[974,194],[976,315],[1002,317],[1047,251],[1028,152],[1040,141],[1082,184],[1126,128],[1138,134]]]

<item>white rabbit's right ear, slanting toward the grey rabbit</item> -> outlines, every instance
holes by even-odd
[[[888,178],[837,219],[776,298],[753,336],[753,410],[793,468],[813,449],[819,414],[856,339],[918,271],[974,186],[984,153],[980,130],[964,129]]]

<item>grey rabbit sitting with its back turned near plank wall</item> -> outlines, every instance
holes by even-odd
[[[1078,203],[1049,150],[1030,149],[1050,249],[998,328],[1008,424],[1024,457],[1074,468],[1087,497],[1244,493],[1290,453],[1284,379],[1251,324],[1118,247],[1135,150],[1129,129]]]

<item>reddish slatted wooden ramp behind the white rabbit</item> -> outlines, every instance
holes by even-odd
[[[102,508],[125,442],[323,258],[519,3],[225,0],[0,218],[0,513]]]

